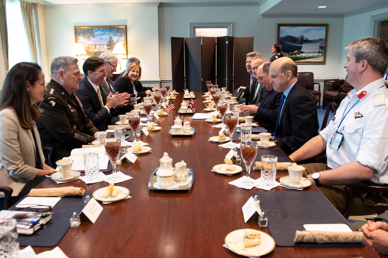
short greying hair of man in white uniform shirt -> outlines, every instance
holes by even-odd
[[[388,45],[381,38],[364,38],[350,43],[345,48],[351,50],[356,63],[367,60],[372,70],[379,72],[381,76],[388,67]]]

